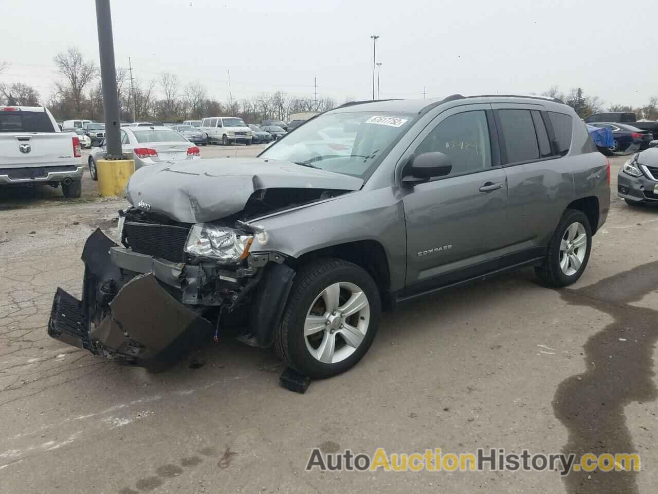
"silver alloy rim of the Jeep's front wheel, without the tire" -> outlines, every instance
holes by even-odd
[[[313,358],[336,364],[355,352],[370,323],[370,304],[354,283],[334,283],[315,298],[304,321],[304,340]]]

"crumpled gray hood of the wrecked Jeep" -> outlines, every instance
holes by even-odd
[[[126,196],[142,211],[182,223],[213,221],[241,211],[266,188],[359,190],[361,178],[265,158],[211,158],[141,167]]]

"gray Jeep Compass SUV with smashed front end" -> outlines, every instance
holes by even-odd
[[[48,332],[145,366],[231,335],[335,375],[367,352],[382,308],[526,265],[574,283],[609,180],[553,99],[347,103],[256,158],[136,171],[120,245],[91,234],[82,300],[58,288]]]

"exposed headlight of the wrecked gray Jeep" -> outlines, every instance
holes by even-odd
[[[224,263],[234,263],[249,255],[253,235],[212,223],[193,225],[185,252],[193,256],[211,258]]]

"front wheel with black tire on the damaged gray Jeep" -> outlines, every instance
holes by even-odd
[[[303,375],[340,374],[370,348],[381,310],[379,290],[365,269],[339,259],[314,261],[295,277],[274,350]]]

